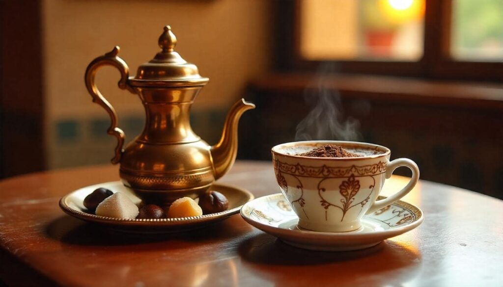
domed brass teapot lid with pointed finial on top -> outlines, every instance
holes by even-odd
[[[209,78],[199,75],[196,65],[188,63],[175,52],[177,37],[170,26],[164,27],[159,37],[162,49],[155,57],[138,67],[136,76],[129,78],[133,86],[198,86],[204,85]]]

